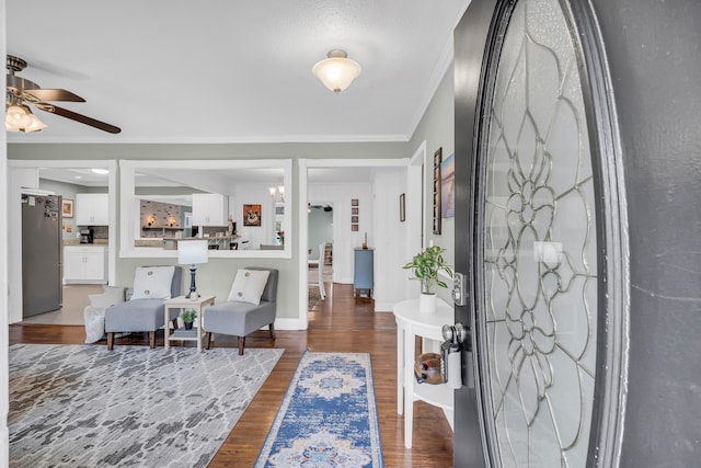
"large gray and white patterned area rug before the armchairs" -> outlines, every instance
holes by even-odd
[[[284,350],[10,346],[10,466],[205,467]]]

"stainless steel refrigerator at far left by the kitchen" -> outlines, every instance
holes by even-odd
[[[61,308],[61,197],[23,194],[22,317]]]

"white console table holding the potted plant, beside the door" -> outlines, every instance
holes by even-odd
[[[404,446],[412,447],[414,401],[422,400],[448,411],[452,419],[453,391],[446,385],[417,384],[414,377],[416,336],[443,341],[444,324],[455,323],[452,307],[443,300],[436,313],[418,312],[418,299],[404,300],[393,307],[397,320],[397,413],[404,413]],[[450,421],[452,426],[452,422]]]

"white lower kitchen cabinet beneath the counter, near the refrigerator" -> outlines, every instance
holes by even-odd
[[[64,283],[106,284],[106,246],[66,246],[64,248]]]

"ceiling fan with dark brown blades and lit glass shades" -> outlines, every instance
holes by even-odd
[[[42,89],[38,84],[27,79],[15,76],[18,71],[26,68],[26,61],[20,57],[8,55],[7,68],[7,103],[5,103],[5,129],[10,132],[36,132],[46,127],[30,110],[27,104],[34,107],[90,125],[110,134],[118,134],[122,128],[110,125],[105,122],[78,114],[68,109],[59,107],[45,101],[85,102],[81,96],[70,91],[56,89]]]

